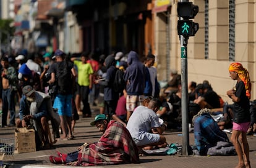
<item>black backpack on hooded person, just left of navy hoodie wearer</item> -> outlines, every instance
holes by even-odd
[[[124,81],[124,71],[116,69],[113,81],[114,92],[122,93],[126,87],[126,81]]]

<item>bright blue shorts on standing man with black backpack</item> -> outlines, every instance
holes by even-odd
[[[56,95],[54,99],[53,108],[58,109],[58,114],[60,116],[72,117],[72,95]]]

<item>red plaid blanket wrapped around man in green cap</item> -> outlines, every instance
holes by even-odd
[[[111,120],[100,140],[80,151],[76,166],[139,163],[139,152],[129,131]]]

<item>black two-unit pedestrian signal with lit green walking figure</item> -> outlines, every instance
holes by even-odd
[[[177,3],[177,15],[182,17],[183,20],[177,22],[177,33],[183,36],[195,36],[199,28],[198,23],[193,22],[192,18],[198,13],[198,6],[195,6],[192,2],[178,2]]]

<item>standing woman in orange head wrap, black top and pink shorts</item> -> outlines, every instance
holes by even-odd
[[[227,91],[227,95],[234,102],[233,104],[233,133],[231,141],[236,148],[238,165],[240,167],[250,167],[249,145],[246,133],[250,126],[250,78],[248,71],[241,63],[235,62],[229,65],[229,76],[237,80],[236,86]],[[239,143],[239,140],[242,143]]]

